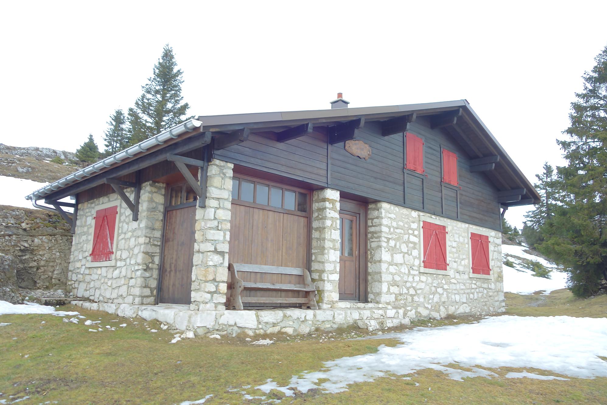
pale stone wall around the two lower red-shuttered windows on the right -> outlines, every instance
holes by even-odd
[[[422,268],[421,220],[447,227],[445,274]],[[470,276],[470,234],[489,236],[492,277]],[[415,318],[504,311],[501,233],[378,202],[368,207],[369,301],[405,309]]]

